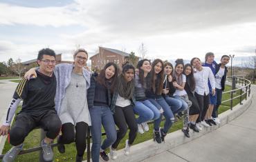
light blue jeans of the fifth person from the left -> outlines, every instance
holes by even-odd
[[[136,119],[138,124],[156,120],[160,117],[160,111],[149,100],[136,101],[134,112],[139,115],[138,119]]]

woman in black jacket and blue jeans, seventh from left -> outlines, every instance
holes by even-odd
[[[163,97],[165,101],[170,105],[173,114],[179,114],[183,112],[182,102],[179,99],[173,97],[176,88],[173,85],[173,65],[170,62],[165,63],[165,79],[163,83]]]

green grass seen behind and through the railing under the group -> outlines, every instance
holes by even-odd
[[[230,90],[230,86],[226,85],[226,91]],[[235,95],[239,95],[234,94]],[[222,101],[230,99],[230,94],[223,94]],[[244,97],[243,97],[244,99]],[[239,103],[239,99],[235,99],[233,101],[233,105],[237,105]],[[223,103],[219,107],[219,114],[222,112],[225,112],[226,110],[230,109],[230,102]],[[164,121],[161,123],[161,127],[163,127]],[[179,120],[178,122],[174,123],[172,125],[172,128],[169,130],[168,133],[174,132],[176,130],[181,130],[183,128],[183,121]],[[153,139],[153,124],[149,125],[149,132],[145,132],[144,134],[139,134],[136,137],[136,140],[134,141],[134,144],[137,143],[142,143],[143,141],[147,141],[150,139]],[[102,132],[104,132],[102,128]],[[102,140],[105,138],[105,136],[102,136]],[[24,149],[28,148],[33,148],[39,146],[39,139],[40,139],[40,130],[33,130],[33,132],[30,132],[28,136],[26,137],[26,140],[24,141]],[[126,134],[125,138],[122,139],[120,144],[118,145],[118,150],[125,148],[125,139],[128,139],[128,133]],[[55,141],[56,142],[56,141]],[[54,154],[55,154],[55,161],[75,161],[75,156],[76,156],[76,149],[75,149],[75,143],[71,143],[70,145],[65,145],[66,146],[66,153],[65,154],[60,154],[57,151],[57,148],[54,148]],[[6,145],[3,149],[3,154],[6,153],[8,150],[10,150],[11,145],[6,141]],[[20,161],[20,162],[26,162],[26,161],[38,161],[39,159],[39,152],[34,152],[30,154],[24,154],[24,155],[19,155],[18,158],[15,161]],[[86,159],[86,153],[84,154],[84,159]]]

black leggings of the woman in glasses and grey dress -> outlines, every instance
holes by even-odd
[[[62,136],[59,143],[69,144],[75,141],[75,146],[78,156],[83,156],[86,149],[86,136],[88,124],[82,122],[76,123],[75,128],[73,123],[64,123],[62,125]]]

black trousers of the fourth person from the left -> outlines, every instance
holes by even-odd
[[[124,108],[116,106],[115,108],[115,114],[113,114],[113,119],[116,123],[116,125],[119,128],[119,131],[117,132],[117,139],[116,142],[113,143],[112,148],[116,149],[118,148],[118,144],[124,138],[126,132],[127,132],[127,125],[130,130],[129,132],[129,145],[134,143],[134,140],[137,135],[138,131],[138,125],[136,123],[136,118],[134,115],[134,110],[131,105],[128,105]]]

